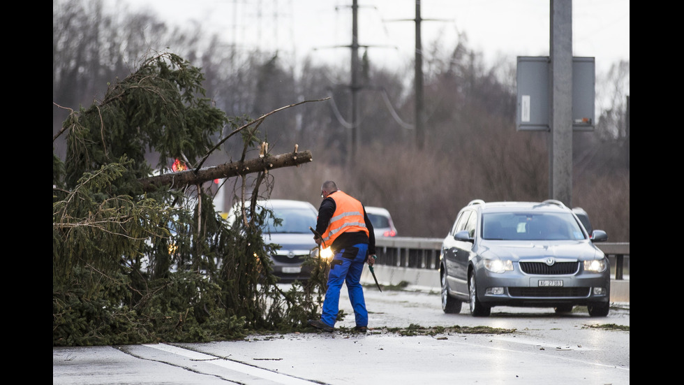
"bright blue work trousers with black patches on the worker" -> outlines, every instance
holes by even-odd
[[[342,284],[346,283],[349,300],[354,308],[356,326],[368,326],[368,310],[366,310],[364,289],[361,285],[361,273],[364,270],[367,256],[368,244],[359,243],[353,247],[339,250],[330,261],[328,289],[325,292],[323,310],[320,316],[320,320],[326,325],[335,326],[340,307],[340,290]]]

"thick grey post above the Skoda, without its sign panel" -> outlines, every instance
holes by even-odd
[[[572,0],[551,0],[550,196],[572,207]]]

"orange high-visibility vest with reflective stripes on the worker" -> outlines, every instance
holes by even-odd
[[[332,245],[332,242],[345,231],[365,231],[366,235],[369,235],[364,220],[364,206],[361,202],[340,190],[331,194],[329,198],[335,201],[336,208],[322,235],[326,245]]]

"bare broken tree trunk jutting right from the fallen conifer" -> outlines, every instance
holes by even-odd
[[[274,168],[299,166],[300,164],[308,163],[312,160],[311,151],[308,150],[280,154],[274,157],[266,155],[263,158],[252,159],[250,161],[237,161],[218,166],[200,168],[200,170],[191,169],[179,171],[177,173],[156,175],[154,177],[143,178],[140,180],[140,183],[142,183],[142,189],[145,192],[154,191],[158,187],[163,186],[178,189],[191,184],[201,184],[209,180],[224,177],[247,175],[249,173],[258,173],[259,171],[267,171]]]

